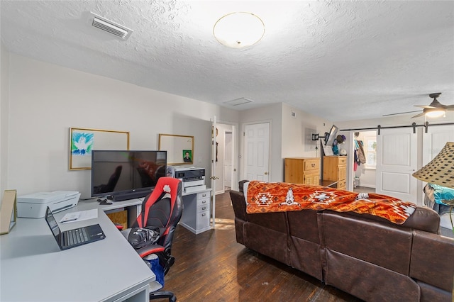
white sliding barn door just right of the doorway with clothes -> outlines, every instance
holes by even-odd
[[[382,129],[377,135],[375,191],[416,203],[417,135],[413,128]]]

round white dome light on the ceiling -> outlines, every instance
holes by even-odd
[[[216,21],[213,34],[219,43],[227,47],[248,47],[262,39],[265,24],[253,13],[228,13]]]

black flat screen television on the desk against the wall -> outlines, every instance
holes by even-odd
[[[165,177],[167,151],[93,150],[92,197],[122,201],[147,196]]]

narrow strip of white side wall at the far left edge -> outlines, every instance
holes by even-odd
[[[1,43],[0,49],[0,203],[3,192],[9,189],[8,176],[8,130],[9,130],[9,52]]]

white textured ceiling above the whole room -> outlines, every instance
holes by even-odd
[[[237,110],[284,102],[350,121],[418,110],[433,92],[454,104],[454,1],[0,5],[10,52]],[[90,11],[133,34],[123,41],[90,26]],[[259,43],[238,50],[216,41],[214,23],[233,11],[260,16]],[[224,104],[243,97],[253,103]]]

